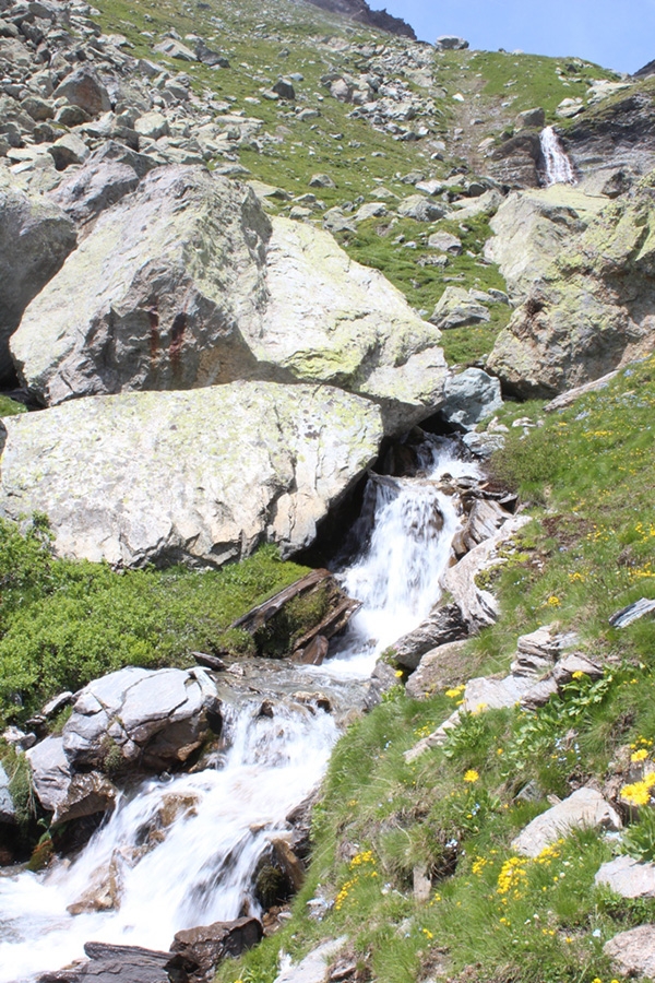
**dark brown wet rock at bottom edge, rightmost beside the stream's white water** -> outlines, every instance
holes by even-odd
[[[200,983],[214,978],[216,966],[228,956],[240,956],[263,936],[258,919],[237,919],[214,922],[212,925],[187,928],[175,936],[166,962],[172,983]]]

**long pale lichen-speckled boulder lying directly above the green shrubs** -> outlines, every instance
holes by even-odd
[[[60,555],[124,566],[300,549],[382,437],[367,400],[265,382],[76,400],[4,426],[0,513],[44,511]]]

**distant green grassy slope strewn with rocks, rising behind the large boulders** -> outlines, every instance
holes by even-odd
[[[543,105],[548,118],[552,119],[561,99],[584,96],[590,81],[611,76],[597,66],[579,60],[571,63],[567,59],[532,55],[445,52],[434,58],[432,84],[427,88],[407,73],[397,73],[413,91],[434,103],[429,119],[430,137],[422,141],[398,142],[361,119],[350,119],[353,106],[332,98],[320,79],[333,70],[353,74],[366,72],[369,62],[353,47],[355,45],[368,45],[370,49],[373,45],[384,45],[388,54],[400,54],[407,44],[402,38],[350,24],[310,4],[288,0],[276,2],[274,15],[253,0],[239,3],[238,8],[226,0],[211,0],[202,5],[180,3],[179,0],[139,4],[99,0],[97,7],[103,28],[107,33],[126,35],[133,45],[129,49],[132,55],[158,61],[172,72],[184,71],[199,95],[211,92],[216,98],[234,99],[234,109],[245,110],[247,116],[263,121],[264,130],[274,135],[276,142],[261,153],[243,150],[239,156],[252,178],[301,196],[310,190],[312,174],[329,173],[336,187],[317,191],[325,210],[374,201],[381,186],[395,196],[396,201],[401,200],[414,191],[410,185],[401,180],[412,170],[426,177],[444,178],[465,158],[473,162],[475,169],[476,161],[481,164],[477,143],[485,137],[499,138],[511,129],[519,111]],[[171,27],[182,38],[189,33],[202,36],[229,57],[230,68],[214,70],[155,55],[152,45]],[[261,88],[273,84],[281,74],[295,72],[303,76],[301,82],[295,83],[297,106],[319,108],[318,119],[301,121],[291,106],[262,97]],[[395,76],[392,73],[392,78]],[[464,95],[464,103],[453,100],[458,93]],[[246,98],[260,102],[247,103]],[[479,123],[472,122],[474,117],[479,118]],[[418,118],[416,123],[424,121]],[[462,135],[455,137],[458,130]],[[431,157],[431,141],[439,139],[443,139],[448,147],[443,161]],[[291,204],[272,201],[270,208],[273,213],[285,214]],[[322,211],[317,210],[317,221],[321,214]],[[354,259],[382,270],[414,307],[429,316],[450,282],[481,289],[504,286],[498,270],[477,259],[490,235],[488,225],[468,222],[466,227],[471,232],[462,230],[452,220],[426,224],[392,217],[382,223],[365,223],[356,235],[338,238]],[[421,268],[418,261],[430,253],[426,246],[428,236],[442,228],[465,237],[464,254],[449,259],[445,270]],[[401,234],[406,240],[415,241],[416,249],[410,251],[402,245],[394,246],[393,240]],[[480,359],[491,350],[509,315],[507,307],[497,305],[490,325],[444,335],[449,362]]]

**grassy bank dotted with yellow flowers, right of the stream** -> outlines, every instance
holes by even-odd
[[[221,980],[271,980],[279,948],[301,954],[342,932],[379,983],[409,983],[440,968],[449,979],[476,981],[610,979],[604,941],[655,917],[653,901],[594,888],[612,842],[585,832],[536,862],[517,862],[510,843],[548,807],[548,794],[617,773],[628,781],[630,746],[651,755],[655,621],[619,631],[608,618],[655,597],[654,406],[651,358],[565,412],[509,406],[508,423],[527,411],[544,425],[525,438],[511,429],[495,462],[532,500],[534,522],[499,568],[502,615],[469,643],[469,672],[505,672],[516,637],[556,620],[605,661],[604,680],[576,680],[534,714],[471,715],[444,748],[413,765],[403,751],[449,715],[458,694],[418,703],[394,690],[337,746],[290,926],[224,967]],[[630,780],[643,767],[632,766]],[[528,781],[536,800],[517,801]],[[632,830],[652,855],[653,824]],[[416,865],[434,880],[426,904],[413,900]],[[322,922],[307,914],[317,895],[335,902]]]

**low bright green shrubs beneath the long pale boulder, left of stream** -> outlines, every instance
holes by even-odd
[[[24,533],[0,521],[0,720],[20,722],[53,694],[123,665],[184,666],[196,650],[253,654],[252,638],[229,625],[306,572],[270,546],[213,572],[115,572],[53,558],[38,517]],[[306,608],[296,611],[299,633],[313,614]],[[277,649],[285,642],[278,629]]]

